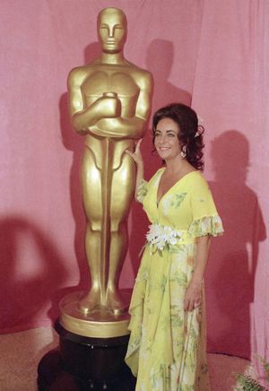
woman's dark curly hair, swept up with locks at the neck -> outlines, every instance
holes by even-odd
[[[202,150],[204,148],[204,126],[198,126],[198,117],[195,110],[183,103],[171,103],[169,106],[156,111],[152,118],[153,143],[155,140],[156,126],[162,118],[171,118],[178,124],[178,140],[181,145],[181,151],[186,152],[187,161],[195,169],[203,171],[204,153]]]

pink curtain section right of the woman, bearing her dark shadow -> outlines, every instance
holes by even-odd
[[[268,2],[205,1],[192,100],[226,230],[207,274],[209,348],[267,360],[268,42]]]

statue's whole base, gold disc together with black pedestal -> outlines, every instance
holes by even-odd
[[[129,315],[78,310],[82,292],[60,302],[56,321],[59,348],[39,362],[39,391],[134,391],[135,378],[126,366]]]

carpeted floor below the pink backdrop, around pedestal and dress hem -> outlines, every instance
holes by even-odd
[[[50,327],[0,335],[0,390],[37,391],[39,361],[57,342],[56,332]],[[208,354],[208,364],[212,391],[234,390],[233,373],[245,372],[249,367],[249,361],[223,354]]]

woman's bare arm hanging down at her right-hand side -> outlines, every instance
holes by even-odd
[[[195,270],[191,282],[187,287],[184,300],[184,309],[187,311],[192,311],[195,307],[201,304],[204,271],[209,256],[210,244],[211,236],[207,235],[198,238],[195,256]]]

